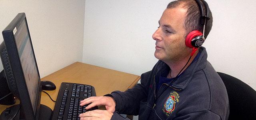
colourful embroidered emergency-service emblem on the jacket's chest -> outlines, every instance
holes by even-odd
[[[180,96],[177,92],[173,91],[170,93],[170,96],[168,96],[164,102],[163,112],[166,114],[166,116],[169,116],[175,110],[176,102],[179,102],[178,98],[180,98]]]

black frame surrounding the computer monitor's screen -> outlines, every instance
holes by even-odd
[[[25,20],[25,22],[26,22],[26,27],[27,27],[27,30],[28,30],[28,36],[30,38],[29,41],[30,41],[30,44],[31,44],[32,52],[34,54],[34,48],[33,48],[33,45],[32,45],[32,41],[31,41],[30,32],[29,32],[29,29],[28,29],[28,23],[27,23],[27,20],[26,20],[25,13],[19,13],[12,20],[12,22],[4,29],[2,34],[3,34],[6,50],[7,50],[7,53],[8,53],[8,57],[9,57],[9,60],[10,60],[10,65],[12,67],[12,73],[14,75],[14,79],[15,79],[15,82],[16,82],[16,88],[18,89],[20,105],[21,105],[21,111],[20,111],[21,116],[20,117],[22,117],[24,115],[24,117],[27,120],[34,120],[34,119],[39,118],[42,86],[41,86],[40,74],[39,74],[39,71],[38,71],[38,66],[37,66],[37,62],[36,62],[36,58],[35,58],[35,54],[34,54],[34,60],[35,60],[35,63],[36,63],[36,69],[37,69],[38,77],[39,77],[39,79],[38,79],[38,88],[36,90],[37,97],[36,97],[36,100],[35,100],[36,110],[34,112],[33,107],[32,107],[32,102],[30,100],[28,88],[26,86],[26,80],[25,80],[24,73],[23,73],[23,70],[22,70],[20,57],[19,57],[19,54],[18,54],[16,40],[15,40],[14,33],[13,33],[14,28],[15,27],[18,28],[20,26],[20,24],[23,22],[23,20]]]

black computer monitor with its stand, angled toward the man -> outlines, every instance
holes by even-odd
[[[1,118],[9,120],[15,116],[38,120],[42,86],[25,13],[19,13],[2,34],[4,42],[0,45],[0,53],[4,73],[10,91],[20,104],[7,108]]]

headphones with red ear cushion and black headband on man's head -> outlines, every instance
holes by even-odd
[[[186,37],[186,41],[185,41],[186,46],[189,48],[193,48],[191,56],[193,56],[193,54],[196,52],[197,48],[202,46],[202,44],[204,43],[204,40],[205,40],[204,30],[205,30],[205,26],[206,26],[206,20],[210,19],[208,16],[208,12],[209,12],[208,4],[204,0],[202,0],[202,2],[204,3],[205,10],[206,10],[206,14],[204,15],[203,6],[202,6],[200,0],[195,0],[195,1],[198,4],[198,7],[199,7],[199,10],[201,13],[200,22],[202,25],[204,25],[204,29],[203,29],[203,33],[200,32],[199,30],[193,30]]]

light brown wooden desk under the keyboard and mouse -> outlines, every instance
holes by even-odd
[[[94,86],[97,96],[103,96],[114,90],[125,91],[132,88],[140,80],[140,76],[75,62],[61,70],[58,70],[41,80],[52,81],[56,85],[56,90],[46,91],[52,99],[56,100],[61,82],[72,82],[89,84]],[[18,100],[16,100],[18,102]],[[55,103],[52,102],[45,93],[42,92],[41,104],[54,109]],[[0,113],[9,106],[0,105]]]

